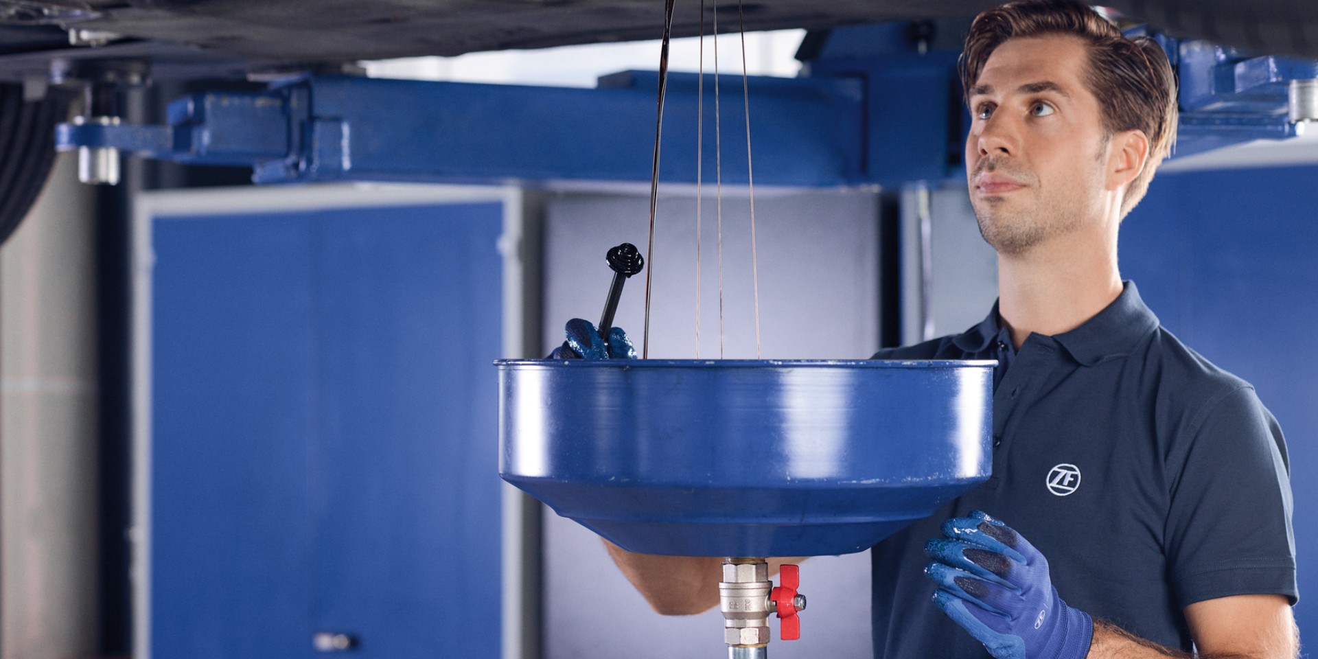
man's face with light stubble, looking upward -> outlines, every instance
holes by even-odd
[[[1108,141],[1086,66],[1077,37],[1014,38],[970,90],[970,203],[999,254],[1024,254],[1102,219]]]

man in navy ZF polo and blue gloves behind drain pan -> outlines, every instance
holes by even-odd
[[[998,360],[992,477],[871,550],[875,656],[1294,659],[1281,430],[1118,272],[1176,136],[1162,49],[1083,4],[1011,3],[975,18],[961,71],[998,303],[875,358]],[[568,335],[555,356],[630,352],[617,328]],[[721,559],[609,552],[659,613],[718,604]]]

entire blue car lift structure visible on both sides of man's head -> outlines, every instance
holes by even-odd
[[[749,80],[757,182],[900,186],[956,178],[966,115],[957,53],[921,51],[909,24],[834,29],[807,76]],[[1133,29],[1130,33],[1144,33]],[[1153,34],[1181,79],[1176,154],[1297,134],[1293,80],[1318,62],[1251,57]],[[712,95],[713,76],[705,76]],[[638,182],[650,179],[658,74],[625,71],[597,88],[308,76],[260,94],[204,92],[170,105],[169,125],[62,124],[62,150],[117,149],[152,158],[253,167],[258,183],[413,181]],[[741,76],[721,95],[741,99]],[[670,76],[664,182],[696,179],[697,80]],[[746,182],[742,103],[724,103],[724,181]],[[706,137],[714,125],[705,103]],[[706,142],[710,140],[706,140]],[[704,166],[714,166],[706,145]]]

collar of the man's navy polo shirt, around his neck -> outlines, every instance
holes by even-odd
[[[1052,339],[1062,345],[1075,361],[1093,366],[1111,357],[1130,355],[1141,339],[1159,327],[1159,319],[1144,304],[1135,282],[1123,282],[1122,294],[1103,311],[1085,324]],[[957,335],[953,343],[967,353],[983,353],[1002,331],[998,302],[979,324]]]

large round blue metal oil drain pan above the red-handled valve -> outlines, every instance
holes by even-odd
[[[630,551],[862,551],[988,478],[994,364],[500,360],[500,476]]]

